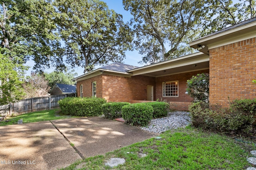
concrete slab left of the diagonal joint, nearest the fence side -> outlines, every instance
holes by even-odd
[[[0,169],[57,169],[81,159],[49,121],[0,127]]]

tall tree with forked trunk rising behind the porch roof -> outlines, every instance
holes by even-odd
[[[145,43],[157,40],[162,50],[162,61],[176,56],[180,48],[183,51],[179,52],[180,55],[193,51],[182,44],[198,35],[196,26],[204,16],[204,1],[123,0],[123,4],[133,16],[131,25],[136,33],[134,43],[137,49],[145,48]],[[166,45],[169,45],[167,51]]]

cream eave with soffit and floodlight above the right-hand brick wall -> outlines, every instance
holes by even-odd
[[[190,47],[209,54],[209,49],[256,37],[256,17],[237,23],[189,43]]]

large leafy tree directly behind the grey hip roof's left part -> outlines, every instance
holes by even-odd
[[[65,43],[63,53],[71,66],[84,72],[96,64],[121,62],[131,49],[132,33],[122,16],[98,0],[56,0],[56,18]]]

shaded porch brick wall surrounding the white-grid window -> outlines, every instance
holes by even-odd
[[[186,84],[187,80],[189,80],[192,76],[200,73],[209,73],[209,70],[200,70],[194,72],[186,72],[181,74],[174,74],[169,76],[162,76],[156,78],[156,99],[166,100],[167,102],[192,102],[193,98],[185,94],[186,92]],[[179,82],[179,96],[178,97],[162,97],[162,83],[169,81],[177,81]],[[185,104],[187,106],[187,104]],[[186,109],[184,109],[186,110]]]

